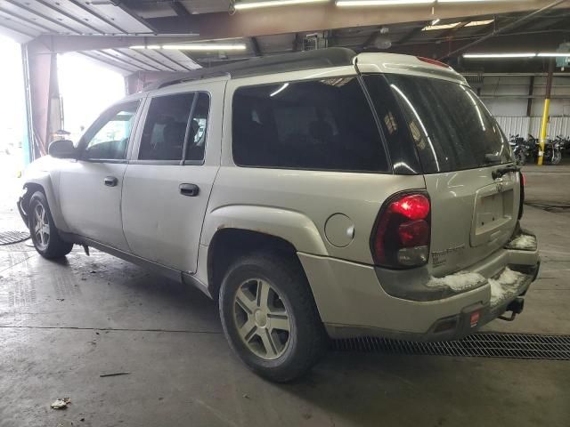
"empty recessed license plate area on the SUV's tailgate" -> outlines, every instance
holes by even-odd
[[[509,238],[515,222],[514,187],[512,181],[501,181],[477,190],[471,246]]]

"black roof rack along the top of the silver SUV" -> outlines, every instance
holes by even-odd
[[[175,73],[144,88],[145,91],[159,89],[168,85],[200,80],[204,78],[228,76],[253,77],[271,73],[285,73],[300,69],[342,67],[352,65],[356,52],[344,47],[330,47],[306,52],[284,53],[281,55],[251,58],[228,65],[212,68],[199,68],[188,73]]]

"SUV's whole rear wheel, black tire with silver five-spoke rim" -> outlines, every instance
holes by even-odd
[[[251,254],[233,262],[222,281],[219,308],[232,350],[274,382],[304,375],[326,349],[328,337],[313,294],[301,266],[288,254]]]

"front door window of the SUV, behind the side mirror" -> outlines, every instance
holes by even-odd
[[[127,102],[105,111],[85,133],[85,159],[122,160],[133,129],[139,101]]]

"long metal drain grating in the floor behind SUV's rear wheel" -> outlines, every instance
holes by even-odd
[[[570,335],[482,332],[449,342],[362,337],[334,340],[333,350],[465,358],[570,360]]]

